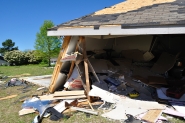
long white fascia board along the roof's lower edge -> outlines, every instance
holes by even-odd
[[[148,27],[126,28],[121,26],[101,26],[98,30],[93,27],[59,28],[57,31],[48,31],[48,36],[89,36],[89,35],[153,35],[153,34],[185,34],[185,26],[182,27]]]

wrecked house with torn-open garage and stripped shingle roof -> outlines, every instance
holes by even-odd
[[[53,95],[64,89],[90,102],[99,97],[116,104],[102,114],[115,120],[185,117],[184,0],[126,0],[47,34],[64,36],[49,87]],[[86,96],[77,94],[83,89]]]

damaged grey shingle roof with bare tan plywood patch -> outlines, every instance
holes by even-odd
[[[185,0],[127,0],[50,30],[61,27],[99,28],[101,25],[121,25],[122,28],[185,25]]]

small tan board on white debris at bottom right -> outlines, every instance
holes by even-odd
[[[155,123],[161,114],[162,110],[149,110],[141,119],[150,123]]]

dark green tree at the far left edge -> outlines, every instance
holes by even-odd
[[[18,50],[18,47],[14,47],[15,42],[12,42],[11,39],[7,39],[2,43],[2,48],[0,48],[0,53],[4,55],[5,52]]]

